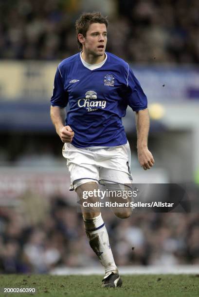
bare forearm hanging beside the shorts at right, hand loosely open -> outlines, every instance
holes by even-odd
[[[149,114],[147,108],[136,112],[136,129],[138,160],[143,169],[147,170],[155,163],[148,150]]]

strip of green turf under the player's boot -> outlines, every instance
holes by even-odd
[[[105,289],[102,276],[0,275],[0,287],[36,288],[34,295],[45,297],[199,297],[199,275],[125,275],[122,280],[121,288]]]

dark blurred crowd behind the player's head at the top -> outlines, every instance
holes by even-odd
[[[199,63],[199,1],[0,1],[0,59],[62,60],[78,51],[75,20],[109,16],[108,51],[129,62]]]

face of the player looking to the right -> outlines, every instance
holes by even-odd
[[[105,24],[93,23],[83,37],[83,50],[94,56],[103,56],[107,45],[107,27]]]

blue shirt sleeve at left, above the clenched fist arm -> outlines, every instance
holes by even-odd
[[[53,95],[51,97],[51,105],[60,108],[66,107],[68,104],[68,94],[64,90],[64,83],[59,67],[56,69],[54,77]]]

